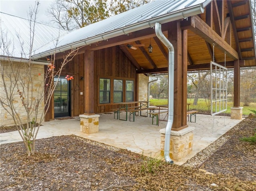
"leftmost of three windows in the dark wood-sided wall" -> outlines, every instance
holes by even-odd
[[[100,78],[100,103],[110,103],[110,79]]]

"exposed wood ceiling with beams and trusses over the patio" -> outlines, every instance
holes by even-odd
[[[241,67],[256,66],[255,43],[248,0],[213,0],[203,14],[181,21],[182,30],[188,30],[188,71],[209,69],[210,61],[234,67],[240,60]],[[167,36],[168,23],[162,24]],[[214,43],[214,47],[213,47]],[[138,49],[129,49],[127,44],[144,44]],[[153,52],[148,52],[152,45]],[[92,50],[118,46],[130,58],[137,73],[166,73],[168,71],[168,49],[156,37],[154,28],[122,35],[97,45]]]

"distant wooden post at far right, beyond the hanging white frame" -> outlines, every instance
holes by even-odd
[[[240,107],[240,66],[234,61],[234,107]]]

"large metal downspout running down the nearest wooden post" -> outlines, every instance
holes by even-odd
[[[173,163],[170,158],[170,136],[174,116],[174,47],[170,41],[164,36],[161,29],[161,24],[155,25],[156,36],[168,48],[168,121],[165,128],[164,141],[164,159],[168,163]]]

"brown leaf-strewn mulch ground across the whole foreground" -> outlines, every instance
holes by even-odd
[[[227,133],[230,138],[198,166],[200,169],[168,164],[78,136],[37,140],[37,152],[30,158],[22,142],[2,144],[0,190],[255,191],[256,144],[240,138],[256,133],[256,120],[245,119]]]

